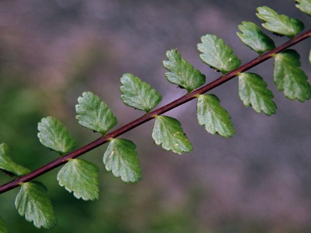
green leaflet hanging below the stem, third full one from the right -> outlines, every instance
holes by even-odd
[[[208,133],[218,133],[223,137],[233,136],[235,133],[230,115],[215,95],[198,96],[197,118],[200,125],[205,125]]]

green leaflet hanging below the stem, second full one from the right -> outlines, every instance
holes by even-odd
[[[258,113],[263,111],[268,116],[276,113],[276,104],[272,100],[273,94],[258,74],[239,75],[239,96],[246,107],[251,105]]]

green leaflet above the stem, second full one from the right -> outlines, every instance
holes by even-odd
[[[237,33],[242,42],[258,53],[276,48],[274,41],[253,22],[245,22],[238,26],[242,33]]]

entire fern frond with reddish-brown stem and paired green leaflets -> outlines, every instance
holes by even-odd
[[[311,0],[296,0],[296,7],[311,16]],[[209,67],[223,75],[206,85],[206,76],[195,69],[177,49],[166,52],[163,66],[168,70],[166,79],[173,84],[187,90],[187,94],[161,108],[152,110],[161,101],[161,94],[133,74],[126,73],[121,77],[121,100],[129,107],[145,112],[145,115],[106,134],[117,124],[117,117],[108,105],[92,92],[84,92],[78,98],[76,105],[76,119],[83,127],[102,134],[100,138],[88,145],[74,150],[76,140],[55,117],[42,118],[38,123],[38,138],[47,148],[59,154],[56,160],[30,172],[26,167],[18,165],[11,158],[9,147],[0,144],[0,169],[15,177],[15,180],[0,186],[0,193],[17,186],[15,205],[18,213],[32,221],[37,228],[51,228],[56,223],[52,202],[48,197],[47,188],[43,183],[32,181],[49,170],[65,164],[57,174],[57,181],[73,196],[83,200],[99,199],[99,167],[89,161],[76,157],[92,150],[104,143],[109,143],[103,152],[103,163],[107,171],[111,171],[116,178],[125,183],[136,183],[141,179],[142,169],[139,164],[136,145],[134,142],[119,138],[119,136],[138,125],[151,119],[155,120],[152,138],[156,145],[164,150],[175,153],[190,152],[191,142],[184,133],[181,123],[163,113],[197,98],[198,123],[211,134],[223,137],[233,136],[235,133],[231,116],[221,106],[221,101],[214,94],[204,94],[234,77],[239,78],[238,93],[243,104],[251,106],[256,112],[263,112],[267,116],[276,113],[276,103],[273,93],[267,83],[256,73],[245,72],[259,63],[274,58],[274,82],[278,90],[290,100],[301,102],[311,98],[311,85],[306,73],[300,68],[300,55],[297,51],[288,49],[296,43],[311,36],[311,31],[300,35],[304,24],[285,15],[279,15],[267,6],[257,8],[256,14],[263,20],[262,27],[277,35],[291,38],[287,43],[275,46],[274,41],[253,22],[243,21],[238,26],[238,36],[247,47],[259,53],[259,57],[241,66],[241,60],[221,38],[206,34],[197,44],[199,58]],[[311,63],[311,52],[309,56]],[[204,85],[204,86],[203,86]],[[70,152],[72,151],[72,152]],[[3,215],[4,213],[0,213]],[[8,232],[0,218],[0,232]]]

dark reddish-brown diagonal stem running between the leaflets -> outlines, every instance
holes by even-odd
[[[0,186],[0,194],[17,187],[20,183],[29,182],[29,181],[35,179],[36,177],[54,169],[55,167],[58,167],[58,166],[61,166],[65,163],[67,163],[69,159],[76,158],[76,157],[86,153],[87,151],[93,150],[93,149],[97,148],[98,146],[103,145],[104,143],[106,143],[108,141],[109,138],[115,138],[117,136],[120,136],[121,134],[126,133],[129,130],[153,119],[155,115],[161,115],[167,111],[170,111],[171,109],[173,109],[175,107],[178,107],[181,104],[184,104],[190,100],[193,100],[194,98],[196,98],[196,95],[203,94],[203,93],[221,85],[222,83],[229,81],[230,79],[236,77],[239,73],[242,73],[242,72],[244,72],[244,71],[246,71],[252,67],[257,66],[259,63],[262,63],[262,62],[268,60],[269,58],[273,57],[274,54],[279,53],[280,51],[285,50],[285,49],[297,44],[298,42],[300,42],[300,41],[302,41],[302,40],[304,40],[310,36],[311,36],[311,30],[309,30],[305,33],[301,33],[300,35],[296,36],[295,38],[291,39],[290,41],[276,47],[274,50],[270,50],[264,54],[259,55],[254,60],[252,60],[252,61],[244,64],[243,66],[219,77],[218,79],[214,80],[213,82],[207,83],[206,85],[202,86],[201,88],[194,90],[194,91],[180,97],[179,99],[174,100],[173,102],[164,105],[161,108],[155,109],[154,111],[137,118],[136,120],[122,126],[121,128],[119,128],[119,129],[117,129],[111,133],[108,133],[107,135],[105,135],[103,137],[96,139],[95,141],[87,144],[86,146],[84,146],[78,150],[74,150],[74,151],[70,152],[69,154],[64,155],[63,157],[59,157],[56,160],[52,161],[51,163],[49,163],[45,166],[42,166],[42,167],[36,169],[35,171],[32,171],[31,173],[18,178],[17,180],[11,181],[9,183],[6,183],[6,184]]]

